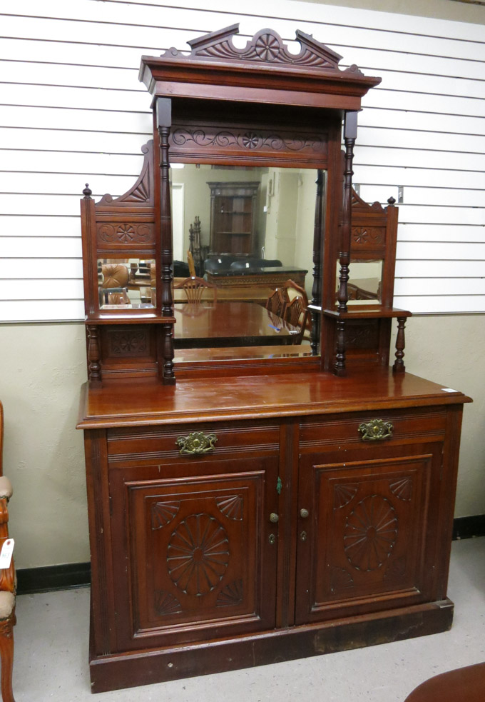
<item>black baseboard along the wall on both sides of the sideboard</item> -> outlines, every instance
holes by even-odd
[[[454,540],[472,538],[473,536],[485,536],[485,514],[474,514],[454,519]],[[20,568],[17,571],[17,578],[17,593],[19,595],[83,588],[91,584],[91,564],[63,563],[61,566]]]

